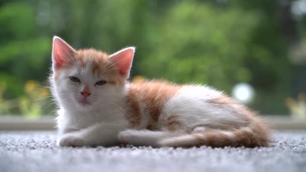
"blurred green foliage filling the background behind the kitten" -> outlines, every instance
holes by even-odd
[[[304,17],[294,18],[292,3],[1,1],[0,81],[6,87],[0,84],[0,114],[50,113],[41,106],[48,105],[40,99],[45,91],[26,88],[28,80],[46,85],[54,35],[77,49],[111,53],[137,46],[132,76],[210,84],[228,94],[235,84],[248,82],[256,91],[252,108],[286,114],[294,66],[290,54],[305,56],[304,51],[291,52],[292,45],[305,42],[300,39]],[[8,107],[11,100],[16,106]]]

